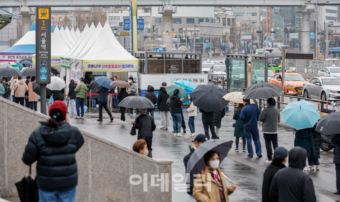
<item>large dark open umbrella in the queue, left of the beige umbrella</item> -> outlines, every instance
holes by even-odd
[[[222,97],[227,92],[216,85],[198,85],[197,88],[190,94],[195,106],[206,112],[222,111],[229,101]]]

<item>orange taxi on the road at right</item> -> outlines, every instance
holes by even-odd
[[[302,87],[308,79],[299,73],[285,73],[285,94],[302,95]],[[282,87],[282,73],[277,73],[269,78],[269,83]]]

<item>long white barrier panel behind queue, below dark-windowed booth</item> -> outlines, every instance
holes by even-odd
[[[148,90],[151,85],[155,90],[159,90],[162,83],[167,86],[175,85],[176,80],[189,80],[195,86],[208,84],[208,74],[203,73],[173,73],[173,74],[140,74],[140,89]]]

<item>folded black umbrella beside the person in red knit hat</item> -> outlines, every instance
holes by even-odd
[[[38,185],[35,179],[30,177],[31,166],[29,166],[29,176],[23,177],[21,181],[15,183],[18,190],[20,201],[38,202]]]

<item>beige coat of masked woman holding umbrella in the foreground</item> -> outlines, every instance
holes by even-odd
[[[224,190],[224,197],[225,201],[229,202],[228,195],[230,195],[232,192],[229,192],[229,189],[227,189],[227,184],[225,182],[225,178],[222,174],[222,171],[220,168],[217,169],[218,174],[220,175],[221,181],[222,181],[222,186]],[[205,177],[203,179],[203,182],[201,181],[201,177],[197,176],[195,179],[199,179],[197,181],[197,184],[208,184],[211,185],[211,191],[208,191],[207,186],[195,186],[192,189],[192,195],[196,199],[197,202],[217,202],[221,201],[220,198],[220,189],[218,188],[218,185],[216,181],[214,180],[213,177],[210,179],[207,178],[208,174],[210,174],[208,166],[205,167],[204,170],[200,171],[198,174],[204,174]]]

